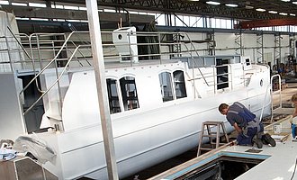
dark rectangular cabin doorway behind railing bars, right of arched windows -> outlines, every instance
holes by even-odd
[[[217,89],[229,87],[229,58],[216,58]]]

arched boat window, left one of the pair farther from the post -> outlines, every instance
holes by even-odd
[[[163,98],[163,102],[171,101],[173,100],[173,93],[172,93],[172,81],[171,81],[171,75],[169,72],[163,72],[158,75],[158,79],[160,81],[160,87],[161,87],[161,94]]]

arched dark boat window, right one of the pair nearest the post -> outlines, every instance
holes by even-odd
[[[136,91],[135,78],[124,76],[120,79],[121,97],[125,111],[139,108],[139,100]]]

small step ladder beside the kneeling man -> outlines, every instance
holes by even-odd
[[[204,121],[202,123],[201,130],[202,131],[199,138],[197,157],[200,155],[201,150],[212,150],[214,148],[219,148],[220,145],[229,143],[229,138],[223,121]],[[207,132],[207,134],[205,134],[205,132]],[[227,141],[226,143],[220,142],[220,137],[222,136],[225,137]],[[203,138],[208,138],[210,140],[210,148],[202,148]],[[213,142],[214,139],[215,142]]]

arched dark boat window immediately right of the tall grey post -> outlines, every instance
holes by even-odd
[[[111,113],[121,112],[116,80],[112,78],[107,78],[106,85],[107,85],[107,94],[108,94],[110,112]]]

